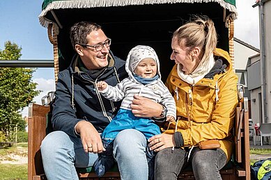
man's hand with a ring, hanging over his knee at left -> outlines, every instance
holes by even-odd
[[[100,134],[95,127],[87,121],[80,121],[77,123],[75,131],[80,134],[84,151],[93,153],[102,153],[105,151],[102,146],[102,140]]]

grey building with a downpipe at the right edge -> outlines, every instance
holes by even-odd
[[[260,0],[253,7],[259,8],[261,52],[251,56],[247,68],[251,115],[255,122],[271,123],[271,1]]]

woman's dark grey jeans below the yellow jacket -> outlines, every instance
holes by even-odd
[[[187,165],[191,165],[194,177],[200,180],[222,179],[219,170],[226,164],[226,154],[222,149],[201,150],[194,147],[187,160],[189,150],[171,148],[163,149],[157,153],[155,158],[155,179],[177,179],[178,174]]]

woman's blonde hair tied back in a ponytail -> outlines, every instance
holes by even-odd
[[[214,22],[206,16],[196,17],[194,21],[180,26],[173,33],[173,38],[177,38],[179,44],[185,40],[185,47],[190,49],[188,54],[194,47],[200,47],[203,51],[202,60],[209,58],[217,46]]]

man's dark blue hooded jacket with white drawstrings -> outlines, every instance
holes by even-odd
[[[52,112],[54,131],[77,137],[75,125],[87,120],[102,132],[118,113],[121,101],[105,99],[95,85],[98,81],[106,81],[114,86],[127,77],[124,60],[113,56],[110,51],[108,61],[107,67],[89,71],[77,55],[68,69],[59,72]]]

